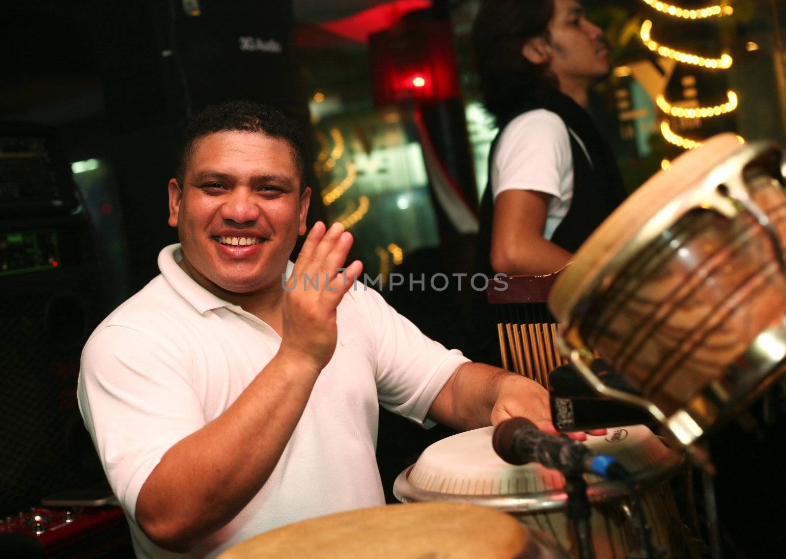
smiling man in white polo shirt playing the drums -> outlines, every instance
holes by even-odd
[[[180,244],[84,349],[79,406],[138,557],[215,557],[384,504],[380,403],[425,426],[553,429],[540,385],[468,362],[347,281],[362,265],[339,273],[352,244],[339,224],[318,222],[288,262],[306,231],[303,143],[263,106],[197,116],[169,183]],[[296,285],[304,274],[329,284]]]

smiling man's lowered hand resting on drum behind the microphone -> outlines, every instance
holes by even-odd
[[[526,417],[549,435],[557,435],[554,427],[549,391],[527,377],[511,373],[506,376],[499,388],[497,402],[491,410],[491,424],[495,427],[511,417]],[[588,431],[590,435],[605,435],[606,429]],[[574,440],[586,440],[583,432],[567,433]]]

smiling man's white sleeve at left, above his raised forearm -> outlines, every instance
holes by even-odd
[[[142,484],[163,454],[205,425],[189,362],[173,340],[119,325],[96,333],[83,351],[79,409],[131,519]]]

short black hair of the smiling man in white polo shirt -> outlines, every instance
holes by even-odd
[[[292,148],[300,191],[306,188],[305,134],[295,120],[283,112],[252,101],[226,101],[220,105],[211,105],[186,123],[178,149],[177,178],[181,188],[196,142],[210,134],[225,131],[254,132],[287,142]]]

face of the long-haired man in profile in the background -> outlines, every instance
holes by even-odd
[[[586,19],[576,0],[554,0],[549,21],[549,72],[560,83],[593,81],[608,74],[608,48],[603,31]]]

